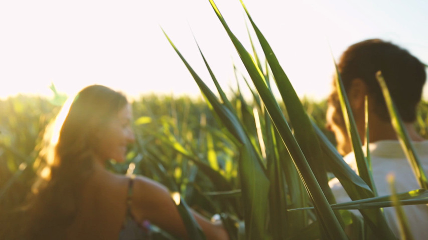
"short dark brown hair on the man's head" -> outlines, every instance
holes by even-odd
[[[426,72],[423,63],[406,49],[381,39],[360,41],[343,52],[338,68],[347,91],[355,78],[364,81],[368,94],[375,99],[376,114],[389,121],[388,109],[376,80],[376,72],[381,70],[402,119],[405,122],[416,119],[416,106],[421,99]]]

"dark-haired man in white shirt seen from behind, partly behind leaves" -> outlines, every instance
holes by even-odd
[[[428,172],[428,141],[424,140],[413,126],[416,106],[426,78],[424,65],[409,52],[390,42],[370,39],[351,45],[341,56],[338,68],[362,143],[365,138],[364,99],[366,95],[368,97],[369,148],[373,180],[379,196],[391,194],[386,180],[388,174],[395,176],[397,192],[420,188],[390,123],[375,74],[378,70],[382,71],[423,168]],[[358,172],[335,86],[328,103],[327,128],[335,133],[338,151],[345,155],[345,161]],[[337,178],[333,178],[329,185],[338,202],[350,200]],[[403,209],[414,237],[426,239],[428,207],[421,204],[403,206]],[[399,236],[394,208],[386,207],[384,211],[388,224]]]

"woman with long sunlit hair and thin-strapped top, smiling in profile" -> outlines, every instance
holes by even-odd
[[[32,239],[147,239],[145,221],[187,238],[168,189],[146,177],[105,169],[125,160],[134,141],[131,107],[121,93],[101,85],[82,89],[52,135],[40,172],[27,237]],[[220,224],[193,212],[207,239],[228,239]]]

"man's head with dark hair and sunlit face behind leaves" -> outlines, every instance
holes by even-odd
[[[379,70],[382,71],[401,118],[405,122],[415,120],[426,73],[424,65],[407,50],[380,39],[361,41],[348,47],[342,54],[338,68],[354,116],[360,118],[356,119],[357,127],[364,126],[360,116],[365,95],[369,98],[369,113],[374,113],[385,124],[389,123],[389,113],[375,76]],[[338,149],[344,154],[351,149],[336,87],[328,101],[327,126],[334,131]]]

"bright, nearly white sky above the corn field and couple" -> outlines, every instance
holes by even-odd
[[[249,50],[239,0],[215,2]],[[428,63],[426,0],[244,3],[300,96],[328,95],[333,72],[329,44],[337,59],[350,44],[379,37]],[[50,95],[51,82],[67,94],[99,83],[131,96],[200,95],[160,26],[214,89],[193,32],[223,88],[236,89],[232,63],[245,70],[208,0],[4,0],[0,97]]]

